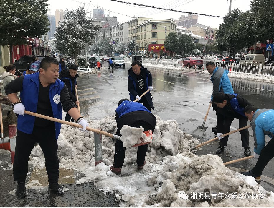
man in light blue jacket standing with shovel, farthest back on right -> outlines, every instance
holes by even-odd
[[[216,67],[214,62],[209,61],[206,64],[207,71],[212,74],[210,80],[213,84],[213,91],[209,103],[212,103],[213,96],[216,92],[224,92],[225,94],[233,94],[233,88],[231,86],[230,80],[227,76],[228,70],[222,67]],[[213,109],[216,108],[215,103],[212,103]],[[212,131],[217,135],[217,126],[212,128]]]

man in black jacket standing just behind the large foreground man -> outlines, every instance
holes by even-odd
[[[76,64],[71,64],[69,70],[62,70],[59,74],[60,80],[62,80],[65,85],[67,85],[67,89],[70,94],[70,98],[72,101],[77,105],[80,102],[76,98],[76,92],[75,92],[75,87],[77,88],[77,81],[76,79],[79,77],[79,74],[77,74],[77,65]],[[60,70],[60,68],[59,68]],[[67,113],[65,117],[65,121],[70,121],[70,115]],[[74,119],[71,119],[71,122],[74,122]]]

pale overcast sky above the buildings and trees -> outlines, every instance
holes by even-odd
[[[122,0],[123,1],[123,0]],[[81,3],[82,2],[82,3]],[[157,4],[153,4],[153,1],[147,0],[129,0],[127,2],[138,2],[138,4],[145,4],[151,6],[157,6],[161,8],[176,9],[186,12],[197,12],[201,14],[210,14],[216,16],[225,16],[229,10],[229,0],[158,0],[154,1]],[[168,2],[168,3],[167,3]],[[232,0],[231,9],[239,8],[243,12],[250,9],[251,0]],[[131,20],[133,14],[137,14],[136,17],[151,17],[154,19],[179,19],[181,15],[186,13],[181,12],[167,12],[159,9],[146,8],[141,6],[133,6],[129,4],[109,1],[109,0],[49,0],[48,14],[55,15],[56,9],[76,9],[79,6],[83,6],[85,3],[85,9],[89,14],[92,15],[93,9],[96,6],[103,7],[104,9],[110,10],[110,16],[116,16],[117,21],[120,23]],[[117,12],[117,13],[115,13]],[[105,14],[109,11],[105,10]],[[118,14],[120,13],[120,14]],[[127,15],[127,16],[125,16]],[[128,17],[130,16],[130,17]],[[210,27],[219,28],[219,24],[223,22],[222,18],[217,17],[204,17],[198,16],[198,23],[207,25]]]

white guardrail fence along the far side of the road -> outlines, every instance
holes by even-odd
[[[132,58],[125,58],[125,61],[132,61]],[[203,59],[204,65],[207,64],[212,59]],[[143,58],[143,64],[156,64],[156,65],[165,65],[165,66],[177,66],[187,68],[184,66],[183,61],[180,59],[162,59],[158,61],[154,58]],[[229,70],[230,73],[242,72],[254,75],[265,75],[265,76],[274,76],[274,64],[267,63],[247,63],[247,62],[232,62],[232,61],[219,61],[215,62],[216,66],[223,67]],[[197,67],[198,69],[198,67]],[[204,66],[204,70],[206,67]]]

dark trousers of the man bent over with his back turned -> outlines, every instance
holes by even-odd
[[[117,132],[116,135],[121,136],[120,130],[124,125],[132,127],[142,126],[144,131],[152,130],[154,131],[156,126],[156,118],[153,114],[147,111],[133,111],[126,113],[117,119]],[[138,166],[142,166],[145,162],[146,151],[148,144],[138,146],[137,150],[137,160]],[[123,147],[123,142],[116,140],[115,143],[115,153],[114,153],[114,168],[122,168],[126,154],[126,147]]]

